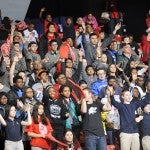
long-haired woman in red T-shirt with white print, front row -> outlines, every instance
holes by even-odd
[[[33,107],[32,124],[27,126],[25,132],[32,137],[31,150],[51,150],[50,141],[46,135],[53,129],[44,113],[43,103],[37,102]]]

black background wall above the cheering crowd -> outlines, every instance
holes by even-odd
[[[150,0],[118,0],[118,8],[125,14],[127,31],[140,41],[146,29],[145,18],[150,9]],[[106,0],[31,0],[26,17],[37,18],[40,8],[46,7],[52,17],[84,16],[92,12],[97,19],[105,10]]]

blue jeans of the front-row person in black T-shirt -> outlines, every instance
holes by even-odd
[[[106,150],[107,143],[106,137],[102,136],[95,136],[89,135],[85,136],[85,150]]]

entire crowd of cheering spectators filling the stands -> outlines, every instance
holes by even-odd
[[[0,16],[4,150],[150,150],[150,16],[137,43],[123,16]],[[144,18],[143,18],[144,21]]]

